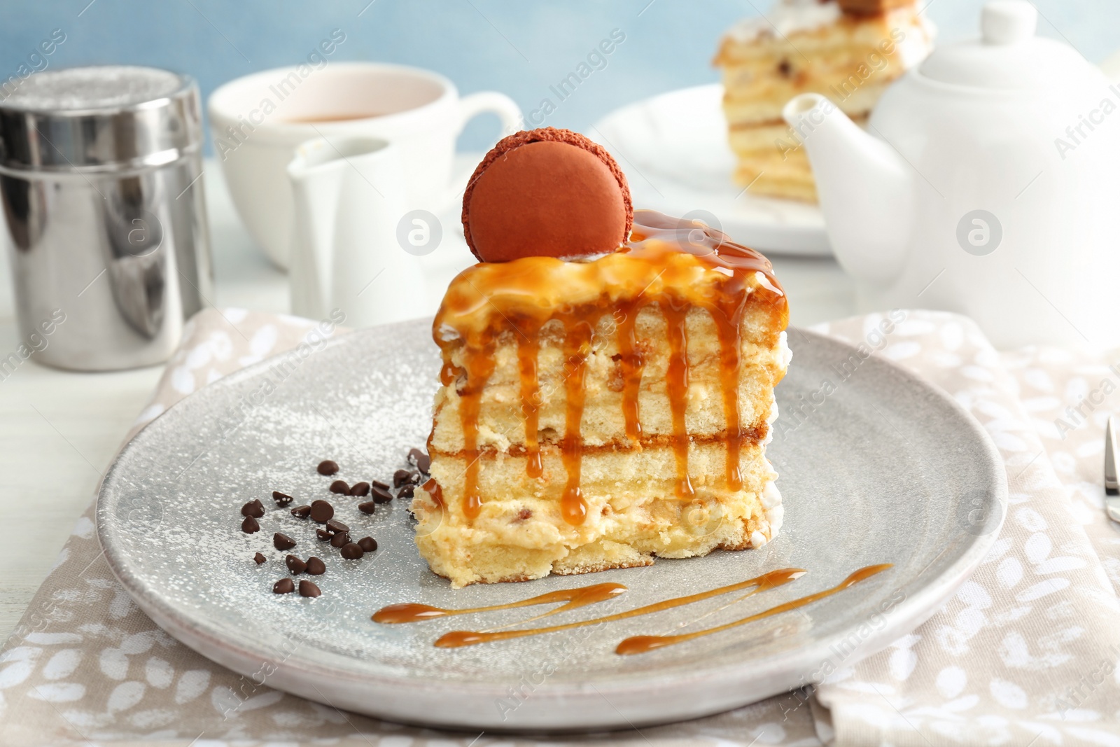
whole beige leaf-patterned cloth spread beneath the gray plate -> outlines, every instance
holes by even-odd
[[[176,642],[113,579],[91,507],[0,652],[0,745],[1120,746],[1120,527],[1104,516],[1101,475],[1120,365],[1066,349],[997,353],[972,321],[941,312],[820,329],[944,387],[1007,465],[996,547],[886,651],[683,723],[558,739],[418,729],[255,685]],[[133,432],[206,383],[339,332],[241,309],[199,314]]]

